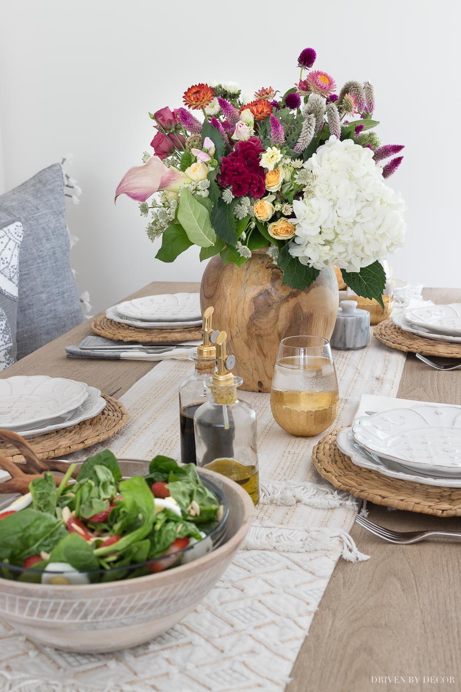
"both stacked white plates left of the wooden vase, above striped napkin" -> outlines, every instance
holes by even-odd
[[[125,300],[107,309],[106,317],[138,329],[200,327],[200,293],[161,293]]]

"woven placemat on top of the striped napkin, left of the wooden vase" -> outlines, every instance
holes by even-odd
[[[122,322],[109,320],[105,315],[91,322],[91,329],[98,336],[105,336],[113,341],[138,341],[139,343],[164,343],[175,341],[193,341],[202,338],[202,327],[184,327],[182,329],[138,329]]]

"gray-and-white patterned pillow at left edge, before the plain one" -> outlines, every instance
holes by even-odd
[[[19,247],[22,224],[0,228],[0,370],[16,360]]]

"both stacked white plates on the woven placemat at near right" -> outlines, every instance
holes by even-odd
[[[337,444],[353,464],[382,475],[461,488],[461,406],[421,403],[364,416]]]

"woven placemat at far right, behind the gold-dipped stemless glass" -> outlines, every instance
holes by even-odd
[[[461,358],[461,344],[449,341],[426,339],[424,336],[411,334],[397,327],[389,318],[373,327],[373,334],[386,346],[409,353],[420,353],[423,356],[440,356],[441,358]]]

